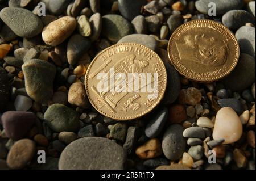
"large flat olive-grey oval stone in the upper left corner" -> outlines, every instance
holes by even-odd
[[[5,7],[0,18],[20,37],[34,37],[43,30],[41,19],[27,9]]]

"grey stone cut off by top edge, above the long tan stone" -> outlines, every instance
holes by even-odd
[[[49,1],[49,11],[53,14],[62,14],[67,9],[70,0]]]

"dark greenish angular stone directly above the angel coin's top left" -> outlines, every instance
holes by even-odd
[[[101,33],[112,43],[117,43],[122,37],[133,33],[133,27],[122,16],[109,14],[102,17]]]

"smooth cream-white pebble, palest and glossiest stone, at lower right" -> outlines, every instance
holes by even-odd
[[[236,142],[242,136],[242,123],[237,113],[230,107],[221,108],[216,115],[213,139],[224,139],[223,144]]]

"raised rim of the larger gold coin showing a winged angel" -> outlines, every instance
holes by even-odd
[[[160,98],[158,100],[156,100],[156,102],[154,104],[152,104],[150,106],[150,108],[148,108],[147,110],[143,111],[142,113],[139,113],[138,115],[135,115],[135,116],[125,116],[125,117],[119,117],[119,116],[113,116],[113,115],[110,115],[108,113],[105,113],[104,111],[102,111],[100,108],[98,108],[94,103],[93,103],[93,100],[91,100],[92,98],[90,97],[90,95],[88,94],[89,90],[88,90],[88,74],[89,74],[89,70],[92,68],[94,62],[97,61],[97,58],[101,56],[101,54],[107,52],[109,49],[112,49],[114,47],[118,47],[118,46],[122,46],[122,45],[135,45],[135,46],[138,46],[138,47],[142,47],[142,48],[145,48],[146,50],[150,51],[159,61],[160,65],[162,66],[162,69],[164,71],[164,89],[162,89],[163,91],[162,94],[160,95]],[[89,99],[89,102],[92,104],[92,106],[98,111],[100,112],[102,115],[105,115],[107,117],[110,117],[112,119],[117,119],[117,120],[133,120],[133,119],[137,119],[139,117],[142,117],[144,115],[146,115],[147,113],[149,113],[150,111],[154,110],[154,108],[160,103],[160,101],[163,99],[164,97],[164,93],[166,91],[166,87],[167,87],[167,71],[166,71],[166,67],[164,66],[164,62],[163,60],[160,58],[160,56],[155,53],[153,50],[151,50],[150,48],[147,48],[146,46],[144,45],[141,45],[141,44],[137,44],[137,43],[120,43],[120,44],[115,44],[115,45],[112,45],[104,50],[102,50],[100,53],[98,53],[96,55],[96,57],[93,58],[92,62],[90,62],[90,65],[86,71],[86,74],[85,74],[85,90],[86,90],[86,94],[88,96],[88,99]]]

